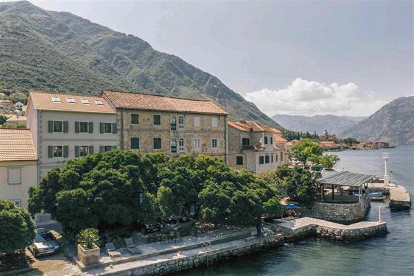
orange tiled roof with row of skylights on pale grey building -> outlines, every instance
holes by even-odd
[[[57,97],[60,101],[53,101],[52,97]],[[82,100],[84,102],[87,101],[88,103],[83,103]],[[106,99],[91,95],[30,91],[29,101],[33,102],[33,106],[37,110],[107,114],[116,113]],[[102,104],[97,104],[96,101],[100,101]]]

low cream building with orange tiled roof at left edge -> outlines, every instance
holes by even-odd
[[[27,209],[30,187],[37,187],[37,154],[30,131],[0,128],[0,199]]]

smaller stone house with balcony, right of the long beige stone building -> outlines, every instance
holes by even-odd
[[[229,121],[228,141],[228,166],[232,168],[263,172],[288,162],[282,132],[255,121]]]

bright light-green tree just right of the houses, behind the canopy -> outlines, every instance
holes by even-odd
[[[317,141],[308,138],[300,139],[295,145],[293,145],[290,156],[301,161],[304,166],[307,161],[311,161],[317,164],[319,157],[322,156],[322,148],[319,146]]]

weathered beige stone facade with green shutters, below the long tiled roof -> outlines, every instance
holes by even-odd
[[[224,115],[117,110],[117,145],[143,154],[203,154],[225,161],[226,125]]]

